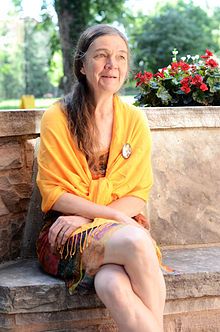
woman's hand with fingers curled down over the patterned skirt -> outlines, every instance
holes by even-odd
[[[50,227],[48,240],[52,249],[60,248],[77,228],[91,220],[80,216],[60,216]]]

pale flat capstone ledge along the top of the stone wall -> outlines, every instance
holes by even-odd
[[[143,107],[150,128],[219,128],[220,106]],[[0,137],[40,133],[44,109],[0,111]]]

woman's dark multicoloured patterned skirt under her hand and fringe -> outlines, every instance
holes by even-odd
[[[73,238],[70,237],[62,252],[55,252],[48,241],[48,233],[60,215],[58,212],[50,211],[45,216],[45,225],[36,243],[38,260],[45,272],[65,281],[70,294],[75,290],[81,294],[88,293],[94,290],[94,277],[103,263],[106,241],[114,231],[124,227],[124,224],[107,221]],[[139,224],[147,224],[147,219],[143,215],[135,218]],[[160,252],[157,254],[160,255]]]

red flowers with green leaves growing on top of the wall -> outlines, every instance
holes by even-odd
[[[177,61],[174,49],[169,66],[157,73],[144,71],[135,76],[140,93],[136,106],[220,105],[220,67],[213,53],[187,55]]]

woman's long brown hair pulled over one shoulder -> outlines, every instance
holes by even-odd
[[[78,148],[88,157],[95,155],[99,148],[98,129],[95,123],[95,108],[86,81],[81,73],[84,56],[91,43],[104,35],[117,35],[121,37],[129,50],[125,36],[116,28],[98,24],[86,29],[80,36],[73,61],[75,85],[73,91],[62,100],[62,106],[67,114],[70,131],[76,140]]]

